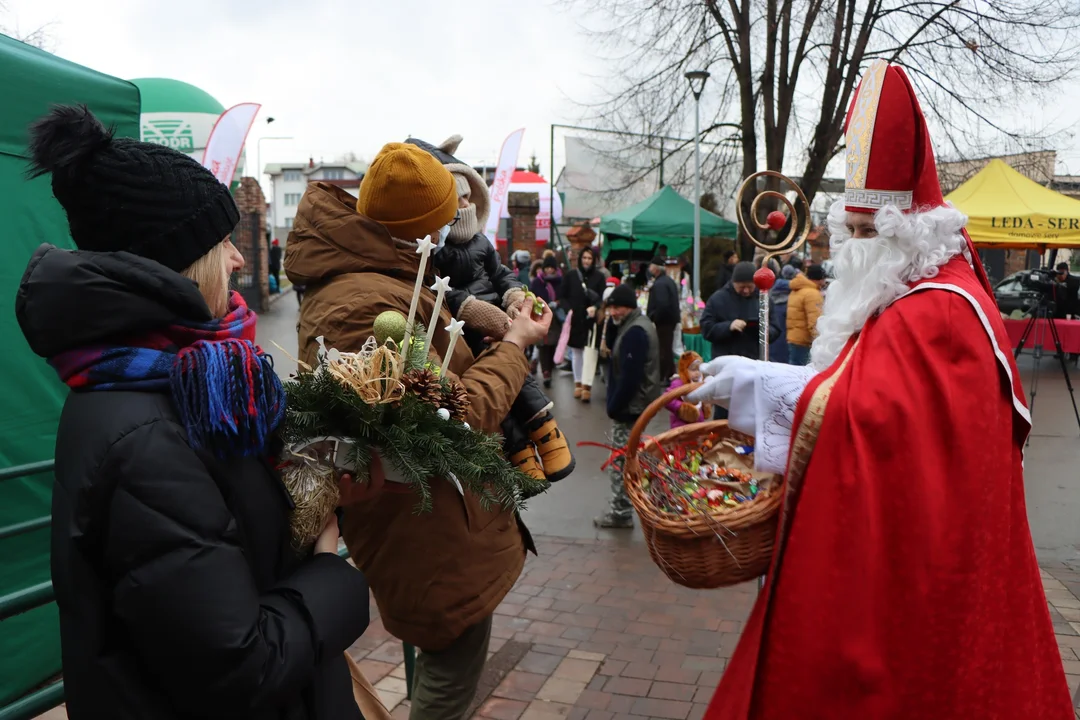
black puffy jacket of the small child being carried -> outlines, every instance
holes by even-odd
[[[501,309],[507,293],[525,289],[517,275],[502,264],[484,233],[478,232],[463,243],[447,240],[432,257],[438,274],[450,280],[453,290],[446,294],[446,304],[455,316],[470,295]]]

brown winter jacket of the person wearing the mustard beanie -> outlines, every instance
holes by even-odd
[[[307,286],[299,349],[309,365],[315,363],[319,336],[327,347],[359,351],[379,313],[406,314],[413,297],[416,245],[393,240],[381,225],[357,214],[355,202],[334,186],[309,186],[288,236],[285,272]],[[427,321],[433,309],[434,296],[424,289],[417,316]],[[449,322],[443,309],[438,326]],[[447,332],[435,332],[432,344],[440,355],[447,340]],[[525,383],[529,364],[510,343],[495,343],[474,358],[458,342],[449,369],[469,391],[469,424],[494,433]],[[431,490],[429,514],[416,514],[411,492],[389,489],[346,507],[342,538],[372,586],[386,628],[421,650],[437,651],[495,612],[521,574],[531,540],[514,513],[485,511],[449,480],[432,480]]]

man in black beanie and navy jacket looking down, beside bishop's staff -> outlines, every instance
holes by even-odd
[[[759,354],[758,302],[754,285],[754,263],[740,262],[731,282],[713,293],[701,314],[701,337],[713,344],[713,357],[741,355],[757,359]],[[780,326],[769,321],[769,342],[780,337]],[[716,406],[713,418],[726,420],[727,409]]]

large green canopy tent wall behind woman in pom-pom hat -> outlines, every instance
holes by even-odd
[[[67,219],[48,177],[26,180],[27,126],[57,104],[87,105],[119,137],[139,136],[138,89],[0,35],[0,467],[53,459],[56,422],[67,394],[56,373],[26,344],[15,321],[15,294],[41,243],[71,247]],[[52,475],[0,481],[0,528],[50,513]],[[0,539],[0,596],[49,580],[49,529]],[[56,606],[0,625],[0,706],[59,673]]]

